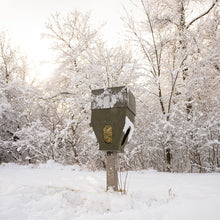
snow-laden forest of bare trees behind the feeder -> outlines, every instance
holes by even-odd
[[[124,43],[108,47],[90,13],[54,13],[42,37],[56,68],[43,82],[0,32],[0,163],[105,168],[90,127],[91,90],[126,85],[135,130],[121,170],[220,171],[218,0],[138,0]],[[168,156],[169,155],[169,156]]]

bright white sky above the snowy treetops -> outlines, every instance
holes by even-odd
[[[129,0],[0,0],[0,31],[7,30],[12,41],[34,60],[38,71],[46,72],[51,70],[47,62],[51,52],[49,42],[42,40],[41,34],[51,14],[90,10],[95,25],[107,22],[104,38],[112,45],[123,27],[121,5],[128,3]]]

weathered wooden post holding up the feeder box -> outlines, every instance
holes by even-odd
[[[112,188],[118,191],[118,154],[117,152],[107,152],[106,162],[107,190]]]

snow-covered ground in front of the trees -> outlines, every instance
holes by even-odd
[[[105,175],[52,161],[0,165],[0,219],[220,219],[220,173],[129,172],[126,195],[106,192]]]

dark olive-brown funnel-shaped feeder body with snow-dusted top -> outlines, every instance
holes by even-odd
[[[134,130],[134,95],[126,86],[93,90],[91,108],[99,149],[123,153]]]

